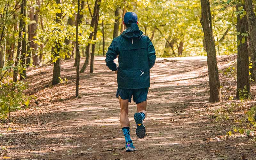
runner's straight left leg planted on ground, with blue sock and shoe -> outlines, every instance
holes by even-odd
[[[120,124],[122,126],[122,131],[124,133],[125,138],[125,151],[131,152],[135,151],[135,147],[132,144],[132,139],[130,136],[130,121],[128,117],[128,104],[129,100],[122,100],[120,96],[118,96],[119,104],[120,104]]]

